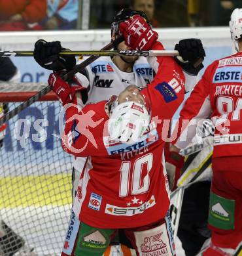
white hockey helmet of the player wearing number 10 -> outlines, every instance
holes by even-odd
[[[127,101],[114,102],[108,122],[109,136],[120,142],[137,142],[150,123],[147,108],[140,103]]]

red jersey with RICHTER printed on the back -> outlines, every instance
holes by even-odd
[[[182,108],[175,145],[184,148],[197,123],[211,115],[215,125],[213,158],[242,154],[242,53],[215,60],[207,67]],[[175,137],[175,130],[173,137]]]

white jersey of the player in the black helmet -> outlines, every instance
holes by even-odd
[[[112,62],[110,56],[103,56],[86,67],[86,75],[78,73],[78,82],[88,89],[88,101],[99,102],[108,100],[112,95],[119,95],[129,85],[145,87],[153,80],[154,72],[147,62],[147,58],[141,56],[133,65],[133,72],[122,72]],[[73,166],[77,171],[82,171],[86,158],[75,158]]]

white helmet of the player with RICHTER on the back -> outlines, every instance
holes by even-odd
[[[239,51],[237,39],[242,37],[242,9],[236,8],[233,10],[230,18],[230,33],[235,50]]]

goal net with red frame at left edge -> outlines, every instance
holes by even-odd
[[[12,110],[44,86],[1,84],[0,113],[6,108],[1,102]],[[0,255],[12,255],[23,241],[35,255],[61,253],[72,202],[72,159],[58,137],[60,112],[48,93],[7,122],[0,148]]]

